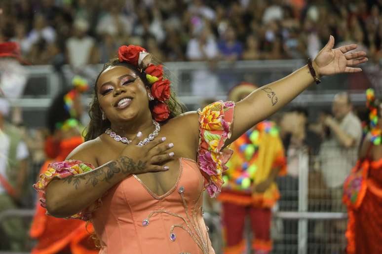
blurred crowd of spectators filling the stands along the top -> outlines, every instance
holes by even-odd
[[[107,62],[121,44],[157,60],[314,57],[336,46],[381,50],[382,0],[3,0],[0,41],[32,64]]]

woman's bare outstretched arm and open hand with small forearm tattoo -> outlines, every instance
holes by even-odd
[[[353,68],[351,66],[366,62],[368,60],[365,57],[366,53],[362,51],[347,53],[355,49],[357,47],[356,44],[336,49],[333,49],[333,46],[334,37],[330,36],[328,44],[314,59],[313,68],[318,75],[362,71],[360,68]],[[262,86],[238,102],[234,112],[232,136],[226,145],[292,101],[312,82],[314,82],[314,78],[310,74],[309,68],[304,66],[280,80]]]

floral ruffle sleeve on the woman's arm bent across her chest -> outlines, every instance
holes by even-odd
[[[42,198],[40,198],[40,204],[43,208],[46,208],[45,205],[45,190],[46,186],[53,179],[66,178],[69,176],[89,172],[93,170],[95,167],[90,163],[83,163],[79,160],[67,160],[61,162],[50,163],[48,165],[48,169],[40,175],[38,182],[33,184],[33,187],[42,193]],[[69,218],[78,218],[82,220],[89,220],[91,218],[91,213],[101,205],[101,199],[98,199],[95,207],[92,206],[92,210],[85,209],[80,211],[79,213],[72,215]]]

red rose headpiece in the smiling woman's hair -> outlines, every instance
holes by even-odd
[[[118,49],[119,62],[127,62],[146,73],[146,79],[151,84],[151,93],[156,101],[152,110],[156,121],[165,121],[170,116],[170,110],[165,103],[170,99],[170,80],[163,79],[163,66],[151,63],[152,55],[143,47],[128,45]]]

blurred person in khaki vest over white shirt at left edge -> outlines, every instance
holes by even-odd
[[[28,177],[28,148],[21,138],[21,132],[5,121],[8,113],[8,101],[0,98],[0,212],[22,205]],[[2,220],[0,226],[6,234],[1,237],[1,241],[8,242],[9,249],[13,252],[24,251],[26,229],[22,220],[8,218]]]

